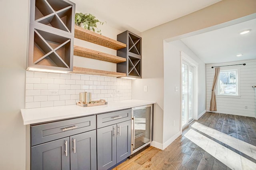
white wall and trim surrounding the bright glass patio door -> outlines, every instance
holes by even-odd
[[[205,63],[202,62],[182,41],[164,42],[164,127],[171,127],[172,132],[165,131],[164,140],[172,138],[180,128],[180,107],[181,107],[181,63],[180,51],[183,51],[198,63],[198,113],[200,115],[206,110],[206,81]],[[178,87],[178,92],[175,91]],[[175,121],[176,126],[173,125]]]

